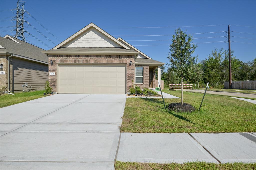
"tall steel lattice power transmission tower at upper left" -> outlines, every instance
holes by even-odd
[[[18,0],[17,2],[17,15],[16,15],[16,34],[15,34],[15,38],[20,38],[22,41],[25,41],[25,36],[24,36],[24,32],[26,32],[24,30],[24,22],[26,22],[24,20],[24,13],[26,12],[26,10],[24,9],[24,5],[25,5],[25,1],[21,1]]]

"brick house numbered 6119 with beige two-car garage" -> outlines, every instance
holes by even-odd
[[[90,23],[56,47],[49,56],[49,82],[56,93],[126,94],[134,84],[156,87],[156,61]]]

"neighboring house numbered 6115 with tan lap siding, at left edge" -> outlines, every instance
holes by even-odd
[[[42,90],[48,80],[48,56],[43,49],[12,36],[0,37],[0,85],[9,92],[23,91],[28,83],[33,90]],[[25,91],[28,91],[25,86]]]

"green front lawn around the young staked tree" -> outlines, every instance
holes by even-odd
[[[181,91],[163,90],[174,96]],[[203,94],[184,92],[184,102],[199,108]],[[180,99],[165,99],[180,102]],[[160,98],[127,98],[121,132],[218,133],[256,132],[256,104],[229,97],[206,95],[200,111],[177,113],[164,109]]]

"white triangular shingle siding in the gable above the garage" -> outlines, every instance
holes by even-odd
[[[91,28],[63,47],[122,47],[98,30]]]

